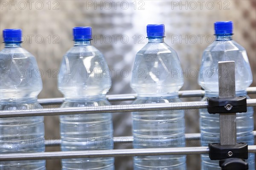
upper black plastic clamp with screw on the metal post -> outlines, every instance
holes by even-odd
[[[207,102],[207,111],[210,114],[247,112],[247,102],[245,96],[224,99],[208,98]]]

